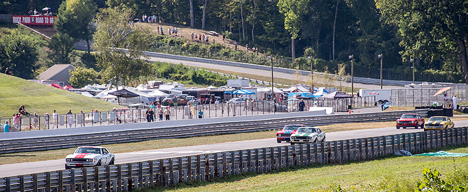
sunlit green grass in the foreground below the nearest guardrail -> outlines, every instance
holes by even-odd
[[[468,153],[468,147],[445,148]],[[180,183],[176,187],[150,187],[140,191],[415,191],[424,168],[435,168],[452,180],[468,184],[468,156],[465,157],[387,157],[345,164],[313,165],[216,178],[210,182]],[[458,174],[449,174],[455,170]],[[460,169],[461,168],[461,169]],[[461,174],[460,174],[461,173]],[[336,187],[340,186],[340,187]],[[343,188],[343,190],[340,190]]]

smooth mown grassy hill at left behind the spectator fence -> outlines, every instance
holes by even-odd
[[[76,113],[80,110],[90,112],[92,109],[107,111],[114,107],[122,108],[99,99],[6,74],[0,74],[0,90],[0,116],[18,113],[20,105],[24,105],[27,112],[36,112],[38,115],[51,114],[53,110],[63,114],[70,109]]]

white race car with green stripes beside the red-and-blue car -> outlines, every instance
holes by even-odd
[[[325,142],[325,133],[318,127],[301,127],[291,134],[291,145],[295,143]]]

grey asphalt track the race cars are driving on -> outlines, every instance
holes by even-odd
[[[466,127],[468,126],[468,121],[456,121],[455,126]],[[408,128],[408,129],[397,130],[395,127],[387,127],[387,128],[378,128],[378,129],[364,129],[364,130],[355,130],[355,131],[333,132],[333,133],[327,133],[326,136],[327,136],[327,141],[334,141],[334,140],[375,137],[375,136],[383,136],[383,135],[395,135],[395,134],[401,134],[401,133],[413,133],[413,132],[422,132],[422,131],[423,131],[422,129]],[[277,143],[276,138],[270,138],[270,139],[238,141],[238,142],[219,143],[219,144],[210,144],[210,145],[197,145],[197,146],[137,151],[137,152],[129,152],[129,153],[117,153],[115,154],[115,158],[116,158],[115,163],[121,164],[121,163],[147,161],[147,160],[154,160],[154,159],[161,159],[161,158],[173,158],[173,157],[197,155],[197,154],[204,154],[204,153],[214,153],[214,152],[221,152],[221,151],[254,149],[254,148],[262,148],[262,147],[276,147],[276,146],[284,146],[284,145],[289,145],[289,143],[284,143],[284,142]],[[73,151],[70,150],[70,153],[72,152]],[[56,160],[47,160],[47,161],[36,161],[36,162],[0,165],[0,177],[61,170],[61,169],[64,169],[64,163],[65,163],[65,159],[56,159]]]

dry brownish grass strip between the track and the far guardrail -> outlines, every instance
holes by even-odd
[[[320,126],[321,129],[326,133],[338,132],[338,131],[351,131],[360,129],[372,129],[372,128],[383,128],[393,127],[395,122],[372,122],[372,123],[347,123],[347,124],[334,124],[327,126]],[[189,137],[181,139],[156,139],[133,143],[121,143],[103,145],[107,147],[112,153],[124,153],[151,149],[163,149],[171,147],[183,147],[183,146],[194,146],[203,144],[216,144],[216,143],[227,143],[234,141],[247,141],[255,139],[267,139],[275,138],[276,131],[259,131],[251,133],[237,133],[237,134],[224,134],[224,135],[211,135],[202,137]],[[276,142],[276,141],[274,141]],[[64,158],[67,154],[71,153],[75,148],[68,149],[57,149],[38,152],[21,152],[21,153],[9,153],[0,155],[0,164],[10,164],[12,162],[32,162],[32,161],[43,161],[52,159]]]

